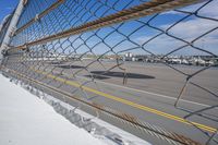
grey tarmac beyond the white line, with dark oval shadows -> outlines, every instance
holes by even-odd
[[[182,86],[186,81],[186,76],[166,67],[166,65],[154,65],[147,63],[131,63],[125,62],[122,65],[123,69],[128,72],[128,83],[123,85],[123,74],[122,70],[119,68],[113,68],[117,63],[104,62],[104,67],[99,63],[95,62],[88,65],[92,61],[83,61],[82,62],[69,62],[64,64],[58,64],[48,67],[45,65],[47,70],[52,70],[53,73],[58,73],[62,71],[63,74],[76,74],[76,76],[81,76],[80,78],[90,77],[90,73],[96,76],[97,82],[104,82],[105,84],[113,84],[117,86],[122,86],[123,88],[135,88],[132,90],[140,92],[148,92],[154,93],[159,96],[167,96],[171,98],[177,98]],[[87,67],[88,72],[84,69]],[[40,67],[41,68],[41,67]],[[43,69],[43,68],[41,68]],[[175,69],[192,74],[198,71],[202,68],[191,68],[191,67],[175,67]],[[104,75],[99,75],[104,73],[106,70],[110,70],[110,73],[106,73]],[[218,94],[218,69],[208,69],[192,77],[190,82],[198,84],[205,88],[208,88],[214,94]],[[70,76],[68,75],[68,76]],[[182,95],[183,100],[190,100],[193,102],[202,104],[203,106],[213,106],[217,105],[216,96],[206,93],[202,88],[198,88],[191,83],[186,87],[185,94]]]

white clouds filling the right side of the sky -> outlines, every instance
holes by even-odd
[[[191,7],[182,9],[182,10],[194,12],[202,4],[204,4],[204,3],[191,5]],[[198,11],[198,15],[217,19],[218,13],[216,10],[218,10],[218,1],[213,1],[209,4],[205,5],[203,9],[201,9]],[[169,12],[166,12],[165,14],[169,14],[169,16],[172,16],[171,14],[173,14],[174,16],[180,15],[180,13],[178,13],[175,11],[169,11]],[[160,25],[159,27],[161,29],[167,29],[172,24],[165,24],[165,25]],[[207,33],[208,31],[216,28],[216,27],[218,27],[218,22],[216,22],[216,21],[210,21],[207,19],[192,16],[187,20],[184,20],[183,22],[180,22],[172,28],[170,28],[169,34],[177,36],[179,38],[182,38],[186,41],[192,41],[195,38],[199,37],[201,35],[203,35],[203,34]],[[147,40],[149,38],[152,38],[152,37],[150,36],[142,36],[142,37],[137,38],[137,41],[140,44],[143,44],[145,40]],[[182,45],[185,45],[185,44],[182,41],[178,41],[174,38],[170,38],[167,35],[162,35],[162,36],[157,37],[154,40],[149,41],[145,47],[155,53],[167,53],[175,48],[179,48]],[[218,29],[215,29],[211,33],[197,39],[196,41],[194,41],[194,45],[199,48],[203,48],[205,50],[208,50],[208,51],[211,51],[211,52],[218,55],[218,48],[217,48]],[[192,49],[192,48],[189,47],[189,49]],[[184,49],[184,51],[186,51],[186,50]],[[189,53],[190,52],[192,53],[192,51],[189,50]],[[179,51],[178,51],[178,53],[179,53]],[[193,50],[193,53],[194,53],[194,50]]]

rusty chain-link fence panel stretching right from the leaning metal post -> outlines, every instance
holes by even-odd
[[[152,143],[218,144],[216,10],[217,0],[28,0],[2,70]]]

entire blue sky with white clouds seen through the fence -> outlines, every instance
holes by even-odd
[[[48,1],[53,1],[53,0],[48,0]],[[128,1],[128,0],[120,0],[120,1]],[[8,15],[9,13],[11,13],[13,11],[13,8],[15,8],[17,2],[19,2],[19,0],[0,0],[0,21],[2,21],[2,19],[5,15]],[[43,3],[43,1],[37,1],[37,0],[35,2],[36,3],[37,2]],[[137,3],[135,3],[135,4],[137,4]],[[194,12],[198,8],[201,8],[202,4],[203,3],[191,5],[191,7],[184,8],[183,10]],[[33,4],[33,5],[35,5],[35,4]],[[71,5],[72,5],[72,3],[71,3]],[[31,11],[36,11],[36,10],[39,9],[37,7],[31,7],[31,5],[28,8],[31,8]],[[122,5],[118,4],[117,9],[121,9],[121,8],[122,8]],[[102,8],[102,9],[105,9],[105,8]],[[102,9],[100,9],[100,10],[102,10]],[[206,7],[204,7],[203,9],[201,9],[198,14],[203,15],[203,16],[208,16],[208,17],[213,16],[214,19],[218,19],[218,14],[215,11],[217,9],[218,9],[218,0],[215,0],[215,1],[210,2],[209,4],[207,4]],[[95,9],[92,9],[92,10],[95,12]],[[98,14],[102,13],[102,12],[100,12],[100,10],[98,11]],[[64,13],[65,13],[65,16],[68,16],[66,10],[64,10]],[[170,12],[166,12],[164,14],[159,14],[158,16],[156,16],[150,22],[150,24],[156,26],[156,27],[159,27],[160,29],[167,29],[167,28],[170,27],[171,24],[173,24],[174,22],[184,17],[185,15],[186,14],[181,14],[181,13],[178,13],[175,11],[170,11]],[[71,16],[73,16],[73,15],[71,15]],[[71,16],[70,16],[70,19],[72,19]],[[23,17],[24,17],[24,20],[27,19],[26,15],[23,15]],[[32,19],[32,17],[29,17],[29,19]],[[142,20],[144,20],[146,22],[146,19],[149,19],[149,16],[143,17]],[[68,25],[68,27],[65,27],[65,28],[71,27],[74,23],[74,21],[72,21],[72,24],[68,24],[66,22],[62,23],[62,21],[59,21],[57,19],[53,19],[52,22],[53,22],[53,24],[60,23],[59,25],[61,25],[61,26]],[[136,22],[128,22],[128,23],[125,23],[124,26],[119,28],[119,31],[121,31],[123,34],[129,34],[140,25],[141,24],[138,24]],[[217,27],[217,22],[208,21],[208,20],[205,20],[205,19],[199,19],[199,17],[196,17],[196,16],[190,16],[189,19],[186,19],[186,20],[180,22],[179,24],[177,24],[175,26],[173,26],[170,29],[169,33],[172,34],[172,35],[175,35],[175,36],[178,36],[182,39],[185,39],[186,41],[192,41],[194,38],[201,36],[202,34],[208,32],[209,29],[211,29],[214,27]],[[49,27],[49,28],[51,28],[51,31],[52,31],[52,27]],[[111,28],[107,27],[107,28],[102,28],[102,29],[105,29],[105,31],[101,31],[99,33],[99,35],[101,35],[104,37],[109,33],[109,31]],[[37,32],[37,33],[38,33],[37,35],[40,35],[40,36],[44,35],[43,32]],[[146,40],[154,37],[157,33],[158,32],[155,31],[154,28],[145,26],[145,27],[141,28],[140,31],[137,31],[136,33],[134,33],[133,35],[131,35],[130,38],[133,41],[136,41],[140,45],[143,45]],[[87,33],[87,35],[88,35],[88,33]],[[84,36],[86,36],[86,34],[84,34]],[[31,37],[34,37],[34,36],[31,36]],[[209,51],[218,55],[218,49],[217,49],[218,39],[217,38],[218,38],[218,29],[216,29],[213,33],[204,36],[204,38],[196,40],[195,46],[201,47],[201,48],[206,49],[206,50],[209,50]],[[111,34],[105,40],[106,40],[107,44],[114,46],[116,44],[118,44],[122,39],[123,39],[122,36],[114,33],[114,34]],[[89,41],[86,41],[86,43],[88,43],[89,46],[93,46],[93,45],[97,44],[98,41],[99,41],[98,38],[92,38],[92,39],[89,39]],[[80,41],[74,43],[75,46],[80,45],[80,44],[81,44]],[[184,43],[178,41],[178,40],[175,40],[171,37],[168,37],[166,35],[161,35],[161,36],[153,39],[148,44],[143,45],[143,47],[145,47],[145,49],[158,55],[158,53],[167,53],[167,52],[169,52],[169,51],[171,51],[171,50],[173,50],[173,49],[175,49],[180,46],[183,46],[183,45],[184,45]],[[122,51],[123,48],[126,50],[128,48],[131,48],[131,47],[134,47],[134,46],[131,45],[130,41],[124,41],[124,43],[122,43],[122,45],[114,48],[114,50],[117,52],[119,52],[119,51]],[[102,48],[105,48],[105,49],[102,49]],[[83,52],[83,51],[86,51],[88,49],[85,48],[85,46],[84,46],[84,48],[81,48],[80,50],[81,50],[81,52]],[[107,49],[107,47],[104,46],[104,45],[99,45],[99,46],[95,47],[95,49],[94,49],[95,53],[102,53],[102,52],[106,52],[107,50],[109,50],[109,48]],[[146,51],[143,51],[142,48],[140,48],[140,49],[134,49],[133,52],[144,53]],[[177,51],[174,55],[177,55],[177,53],[179,53],[179,55],[181,55],[181,53],[182,55],[192,55],[192,53],[202,53],[202,52],[193,50],[193,48],[187,47],[185,49]]]

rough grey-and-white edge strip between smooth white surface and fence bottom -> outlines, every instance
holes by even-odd
[[[108,145],[152,145],[150,143],[123,131],[108,122],[100,120],[98,117],[94,117],[89,113],[82,111],[77,107],[73,107],[60,99],[55,98],[44,92],[40,92],[32,86],[23,84],[21,81],[11,78],[11,82],[20,85],[27,92],[45,100],[47,104],[53,107],[56,112],[63,116],[71,123],[78,128],[83,128],[94,137],[101,140]]]

